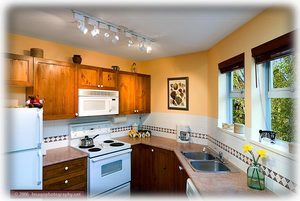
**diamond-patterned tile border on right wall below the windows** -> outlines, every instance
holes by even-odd
[[[242,162],[250,165],[252,163],[252,159],[249,158],[248,156],[242,154],[241,152],[233,149],[232,147],[229,147],[228,145],[214,139],[211,136],[208,136],[208,140],[211,141],[213,144],[217,145],[218,147],[220,147],[221,149],[223,149],[224,151],[230,153],[231,155],[233,155],[234,157],[238,158],[239,160],[241,160]],[[270,179],[272,179],[273,181],[279,183],[280,185],[284,186],[285,188],[287,188],[288,190],[292,191],[292,192],[296,192],[296,186],[297,184],[294,183],[293,181],[285,178],[284,176],[278,174],[277,172],[271,170],[270,168],[259,164],[261,166],[261,168],[263,169],[263,171],[265,172],[265,175],[267,177],[269,177]]]

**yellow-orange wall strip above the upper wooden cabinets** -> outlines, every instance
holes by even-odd
[[[80,54],[82,64],[86,65],[104,68],[117,65],[125,71],[130,71],[133,62],[137,64],[137,68],[140,66],[140,62],[133,60],[23,35],[8,34],[8,41],[7,52],[14,54],[29,54],[30,48],[35,47],[44,50],[44,58],[58,61],[72,62],[73,55]]]

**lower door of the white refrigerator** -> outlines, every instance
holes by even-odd
[[[7,154],[7,182],[10,190],[41,190],[43,158],[41,149]]]

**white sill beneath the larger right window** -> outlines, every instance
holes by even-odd
[[[287,142],[276,140],[276,144],[271,144],[264,140],[262,142],[250,140],[250,143],[295,161],[295,155],[289,153],[289,146]]]

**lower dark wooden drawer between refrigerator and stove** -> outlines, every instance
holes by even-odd
[[[83,190],[86,191],[86,171],[79,171],[44,181],[43,190]]]

